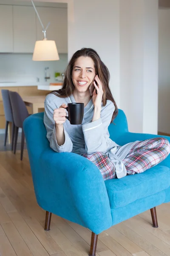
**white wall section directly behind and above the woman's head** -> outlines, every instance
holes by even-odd
[[[119,0],[74,0],[72,53],[82,47],[95,49],[110,73],[110,87],[119,105]]]

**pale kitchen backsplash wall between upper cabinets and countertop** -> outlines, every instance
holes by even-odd
[[[45,67],[49,67],[50,81],[54,81],[54,73],[63,73],[68,63],[67,54],[59,54],[59,61],[32,61],[32,54],[0,54],[0,80],[3,78],[36,81],[36,77],[44,82]]]

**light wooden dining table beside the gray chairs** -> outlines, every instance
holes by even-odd
[[[32,113],[38,113],[39,108],[44,108],[45,96],[24,96],[26,106],[32,108]]]

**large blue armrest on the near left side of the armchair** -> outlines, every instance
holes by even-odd
[[[47,148],[37,163],[32,162],[31,171],[40,207],[96,234],[111,227],[108,193],[94,163],[78,154]]]

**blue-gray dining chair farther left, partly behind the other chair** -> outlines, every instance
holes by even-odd
[[[2,89],[1,93],[2,93],[2,97],[3,97],[3,108],[4,108],[5,118],[6,118],[4,146],[6,146],[6,140],[7,140],[7,134],[8,134],[8,124],[9,124],[9,122],[11,122],[12,123],[11,150],[13,150],[15,125],[14,125],[14,119],[13,119],[13,115],[12,115],[11,102],[10,102],[10,98],[9,98],[9,90]]]

